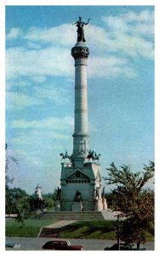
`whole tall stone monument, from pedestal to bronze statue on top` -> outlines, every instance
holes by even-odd
[[[100,154],[89,148],[87,61],[89,47],[85,43],[83,26],[87,25],[81,17],[77,26],[77,44],[71,49],[75,60],[75,124],[73,134],[73,152],[60,154],[61,211],[101,211]],[[67,159],[67,161],[66,161]]]

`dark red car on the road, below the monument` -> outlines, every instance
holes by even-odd
[[[54,241],[47,241],[43,245],[43,249],[48,250],[75,250],[75,251],[82,251],[83,246],[81,245],[71,245],[70,241],[62,241],[62,240],[54,240]]]

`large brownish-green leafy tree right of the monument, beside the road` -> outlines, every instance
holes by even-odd
[[[140,248],[140,243],[146,241],[146,228],[154,221],[154,193],[143,190],[145,184],[154,176],[154,162],[144,165],[143,172],[131,172],[129,166],[117,169],[114,163],[106,169],[107,184],[115,184],[112,193],[117,202],[115,210],[121,212],[126,220],[121,229],[123,241],[133,241]]]

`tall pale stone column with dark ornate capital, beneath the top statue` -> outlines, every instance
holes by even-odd
[[[89,152],[87,60],[89,48],[77,42],[71,49],[75,59],[75,130],[73,134],[73,161],[83,162]]]

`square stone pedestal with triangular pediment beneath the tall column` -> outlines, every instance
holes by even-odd
[[[77,162],[75,162],[75,166],[62,164],[60,178],[61,211],[73,211],[72,204],[75,202],[77,190],[81,194],[83,211],[94,211],[95,190],[97,187],[100,188],[100,181],[100,164],[98,163],[85,163],[81,167],[77,166]],[[101,201],[101,188],[99,190]],[[103,209],[103,207],[99,208]]]

